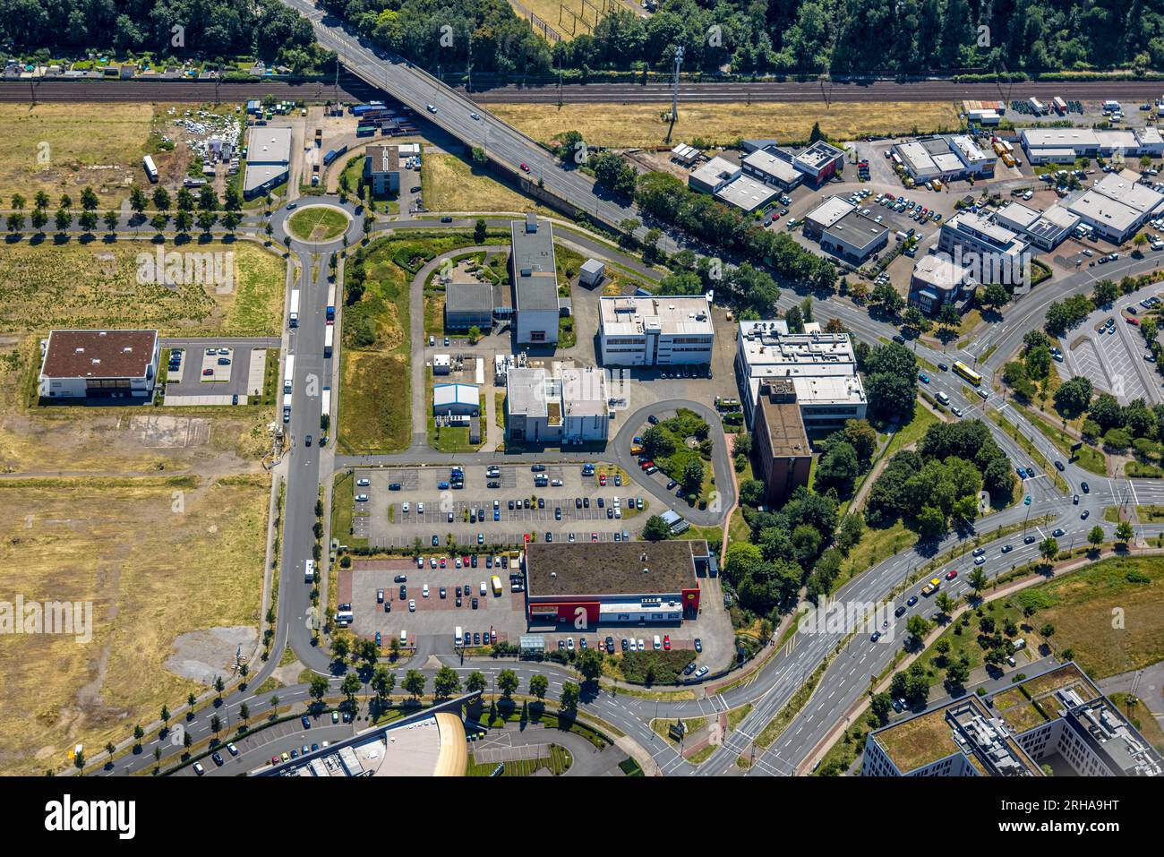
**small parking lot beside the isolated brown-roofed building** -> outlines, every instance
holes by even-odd
[[[268,350],[230,340],[175,347],[166,370],[166,404],[247,404],[248,396],[262,395]],[[270,359],[278,360],[278,352]]]

